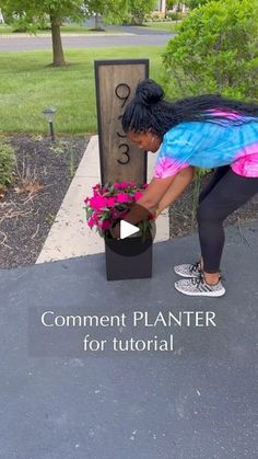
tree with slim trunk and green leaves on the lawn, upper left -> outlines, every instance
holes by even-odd
[[[52,66],[64,66],[60,25],[66,18],[78,21],[85,14],[83,0],[1,0],[1,9],[9,22],[22,20],[24,27],[34,32],[46,18],[50,21]]]

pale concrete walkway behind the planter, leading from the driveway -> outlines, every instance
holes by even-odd
[[[156,156],[148,154],[148,181]],[[86,225],[84,198],[99,182],[98,137],[93,136],[64,196],[36,263],[51,262],[104,252],[104,241]],[[156,222],[156,242],[169,239],[168,210]]]

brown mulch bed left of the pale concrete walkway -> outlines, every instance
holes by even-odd
[[[89,141],[25,135],[7,140],[16,165],[12,185],[0,197],[0,268],[36,262]]]

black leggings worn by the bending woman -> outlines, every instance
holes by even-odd
[[[230,165],[218,168],[199,196],[197,221],[203,271],[218,273],[225,241],[223,221],[258,193],[258,177],[235,174]]]

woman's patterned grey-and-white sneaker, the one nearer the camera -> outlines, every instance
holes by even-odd
[[[225,288],[221,280],[215,285],[207,284],[202,274],[199,277],[177,280],[175,288],[180,294],[189,296],[222,297],[225,294]]]

